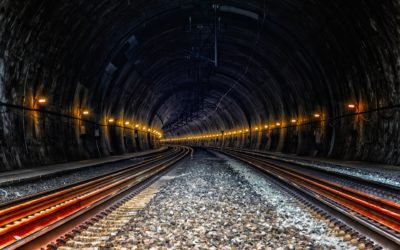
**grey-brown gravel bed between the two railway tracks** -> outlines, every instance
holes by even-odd
[[[351,249],[251,168],[196,150],[105,249]]]

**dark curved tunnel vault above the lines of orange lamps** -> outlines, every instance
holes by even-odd
[[[28,72],[28,93],[51,92],[60,112],[83,95],[99,119],[142,121],[166,136],[335,117],[349,101],[393,105],[398,5],[5,0],[0,68],[10,80],[1,98],[21,93]]]

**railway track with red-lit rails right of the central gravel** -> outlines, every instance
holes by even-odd
[[[375,243],[400,249],[400,189],[358,177],[317,168],[279,162],[262,154],[234,149],[215,149],[246,162],[283,182],[296,194],[333,211]]]

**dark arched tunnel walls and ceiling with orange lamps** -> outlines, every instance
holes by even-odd
[[[399,14],[397,0],[2,0],[0,175],[171,145],[398,173]]]

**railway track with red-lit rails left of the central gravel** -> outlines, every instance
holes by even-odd
[[[0,249],[38,249],[54,242],[160,177],[191,150],[173,147],[122,170],[1,205]]]

